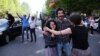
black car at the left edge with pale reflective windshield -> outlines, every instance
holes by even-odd
[[[21,35],[21,22],[19,20],[15,20],[10,27],[8,26],[7,19],[0,19],[0,45],[9,43]]]

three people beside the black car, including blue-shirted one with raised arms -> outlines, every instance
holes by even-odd
[[[8,11],[6,12],[7,14],[7,19],[8,19],[8,25],[10,28],[13,23],[15,22],[15,18],[14,16],[9,13]],[[36,42],[36,33],[35,33],[35,29],[36,29],[36,17],[35,16],[30,16],[30,14],[27,15],[23,15],[20,16],[18,13],[16,13],[17,16],[21,19],[22,22],[22,40],[21,42],[26,42],[25,41],[25,35],[27,36],[27,41],[33,42],[33,34],[34,34],[34,41]],[[30,20],[29,20],[30,19]],[[26,34],[25,34],[26,31]],[[31,36],[31,40],[29,39],[29,31],[30,31],[30,36]]]

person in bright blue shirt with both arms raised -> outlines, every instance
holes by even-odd
[[[17,15],[18,15],[18,13],[17,13]],[[29,39],[29,35],[28,35],[29,23],[28,23],[28,20],[30,18],[30,14],[29,14],[28,17],[26,15],[23,15],[22,17],[18,15],[18,17],[22,21],[22,42],[24,42],[24,31],[26,31],[27,39]]]

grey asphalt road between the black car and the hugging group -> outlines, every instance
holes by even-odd
[[[37,42],[21,42],[21,36],[0,47],[0,56],[44,56],[44,40],[40,29],[36,29]]]

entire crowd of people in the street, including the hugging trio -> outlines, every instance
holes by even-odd
[[[14,17],[8,12],[9,26],[14,22]],[[22,21],[22,42],[25,42],[24,33],[26,31],[27,40],[29,39],[28,31],[30,29],[31,42],[36,42],[36,18],[30,17],[30,14],[17,16]],[[41,18],[41,17],[40,17]],[[30,22],[29,22],[29,19]],[[42,33],[45,41],[45,56],[91,56],[90,46],[88,43],[88,32],[94,34],[95,20],[93,16],[83,16],[80,14],[67,15],[61,8],[56,10],[55,19],[45,16],[41,18]],[[100,28],[100,19],[98,28]]]

